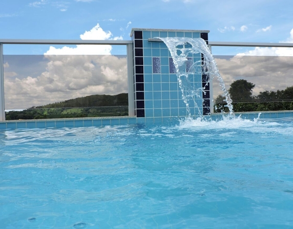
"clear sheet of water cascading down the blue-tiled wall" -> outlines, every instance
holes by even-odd
[[[162,40],[167,45],[173,58],[178,83],[182,91],[182,99],[187,107],[188,117],[191,117],[188,100],[194,102],[198,114],[201,115],[202,112],[196,103],[196,98],[202,98],[202,93],[206,93],[206,87],[210,85],[212,79],[215,77],[222,88],[223,96],[225,96],[225,101],[227,103],[226,106],[229,108],[230,117],[234,117],[232,100],[206,42],[201,38],[168,37],[158,39]],[[197,53],[203,58],[193,62],[190,57],[193,57],[193,54]],[[205,81],[205,85],[202,84],[201,87],[198,88],[193,86],[188,77],[193,77],[194,74],[201,74],[203,76],[203,82]]]

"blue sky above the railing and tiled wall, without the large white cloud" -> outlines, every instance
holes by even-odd
[[[110,39],[130,40],[131,28],[162,28],[209,30],[209,41],[286,42],[292,9],[291,0],[5,0],[0,39],[75,40],[99,24]],[[4,54],[46,49],[7,45]]]

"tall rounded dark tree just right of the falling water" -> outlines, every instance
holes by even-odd
[[[252,100],[252,89],[255,84],[247,80],[236,80],[230,85],[228,90],[233,102],[246,102]]]

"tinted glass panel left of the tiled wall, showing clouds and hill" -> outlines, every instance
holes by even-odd
[[[128,114],[125,55],[4,55],[3,59],[5,110],[30,108],[26,114],[6,113],[7,120]]]

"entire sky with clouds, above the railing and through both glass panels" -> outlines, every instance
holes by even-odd
[[[0,39],[130,40],[131,28],[157,28],[209,30],[209,41],[213,42],[292,43],[292,9],[291,0],[4,0],[0,7]],[[7,109],[91,93],[127,92],[124,56],[91,56],[83,60],[72,56],[125,55],[124,46],[7,44],[3,49]],[[244,58],[278,56],[270,62],[279,62],[282,56],[293,56],[290,48],[212,47],[212,53],[231,56],[216,59],[227,85],[235,79],[249,79],[256,84],[257,94],[283,88],[284,83],[278,82],[284,75],[291,83],[290,58],[280,61],[277,66],[286,71],[276,70],[272,81],[265,78],[271,69],[262,68],[268,64],[256,62],[260,58]],[[61,54],[70,56],[54,56]],[[16,64],[17,58],[9,59],[10,55],[37,56]],[[34,61],[29,63],[28,59]],[[34,72],[28,72],[28,66]]]

